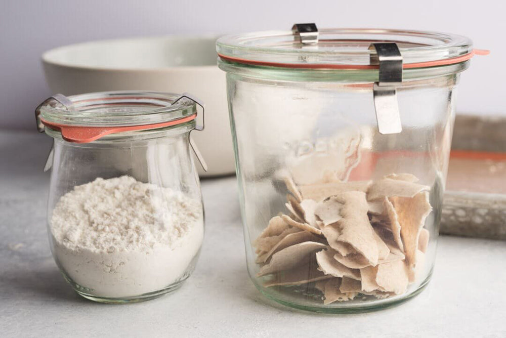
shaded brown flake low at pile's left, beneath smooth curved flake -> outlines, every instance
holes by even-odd
[[[280,271],[272,275],[272,277],[264,283],[265,287],[278,285],[302,285],[319,280],[329,279],[332,276],[325,275],[316,269],[316,264],[306,264],[290,270]]]

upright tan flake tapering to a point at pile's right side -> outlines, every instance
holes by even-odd
[[[404,245],[406,263],[410,270],[414,268],[416,249],[420,230],[427,216],[432,211],[427,191],[416,194],[412,198],[392,197],[392,204],[401,224],[401,238]]]

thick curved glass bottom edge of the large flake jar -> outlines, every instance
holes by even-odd
[[[409,293],[401,294],[396,297],[384,299],[384,300],[376,300],[371,302],[363,302],[363,303],[356,303],[353,302],[351,304],[344,304],[344,303],[337,303],[337,306],[331,305],[324,305],[323,303],[318,305],[312,305],[310,302],[307,302],[308,304],[303,304],[302,302],[296,303],[293,301],[290,301],[288,297],[278,297],[281,295],[280,292],[267,292],[267,289],[257,285],[255,286],[257,289],[265,295],[270,300],[275,301],[276,303],[282,304],[284,306],[288,306],[290,308],[298,309],[298,310],[304,310],[304,311],[311,311],[311,312],[319,312],[319,313],[328,313],[328,314],[354,314],[354,313],[365,313],[365,312],[374,312],[379,310],[388,309],[391,307],[395,307],[397,305],[400,305],[416,295],[418,295],[421,291],[425,289],[427,284],[429,284],[429,281],[431,279],[431,274],[424,280],[423,283],[421,283],[415,290],[412,290]],[[334,303],[336,304],[336,303]]]

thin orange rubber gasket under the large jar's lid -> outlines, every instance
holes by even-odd
[[[451,59],[425,61],[425,62],[414,62],[404,63],[403,69],[409,68],[423,68],[433,66],[444,66],[455,63],[460,63],[471,59],[474,55],[488,55],[490,52],[487,50],[474,49],[471,53],[461,55]],[[379,65],[345,65],[345,64],[326,64],[326,63],[282,63],[282,62],[268,62],[268,61],[256,61],[242,58],[236,58],[232,56],[225,56],[218,53],[220,59],[255,66],[269,66],[269,67],[280,67],[280,68],[299,68],[299,69],[378,69]]]

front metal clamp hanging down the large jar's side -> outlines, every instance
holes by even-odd
[[[402,56],[396,43],[377,43],[369,46],[370,64],[379,65],[379,80],[374,82],[373,97],[380,134],[402,132],[396,85],[402,82]]]

